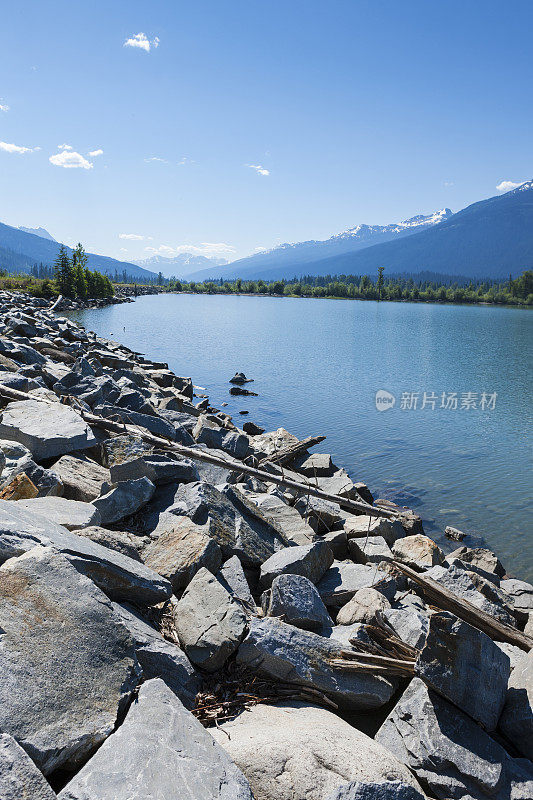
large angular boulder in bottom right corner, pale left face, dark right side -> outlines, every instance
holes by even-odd
[[[528,800],[531,763],[414,678],[376,734],[439,800]]]

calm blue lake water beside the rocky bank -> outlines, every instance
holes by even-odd
[[[326,435],[316,450],[414,508],[439,542],[446,525],[483,536],[533,579],[529,311],[184,294],[71,316],[192,376],[237,424],[242,410],[267,430]],[[236,371],[259,397],[231,397]],[[379,390],[392,408],[377,411]]]

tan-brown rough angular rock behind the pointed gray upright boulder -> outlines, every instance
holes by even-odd
[[[222,564],[222,552],[207,535],[207,526],[196,525],[188,517],[162,514],[153,536],[155,541],[144,550],[143,561],[167,578],[176,594],[202,567],[215,574]]]

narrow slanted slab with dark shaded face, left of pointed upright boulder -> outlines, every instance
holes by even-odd
[[[161,678],[187,708],[193,708],[200,676],[177,642],[169,642],[127,603],[113,603],[118,620],[135,642],[144,680]]]

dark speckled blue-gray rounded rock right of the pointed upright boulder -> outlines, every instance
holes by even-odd
[[[284,622],[308,631],[319,631],[333,625],[316,586],[303,575],[278,575],[269,592],[268,617],[281,617]]]

